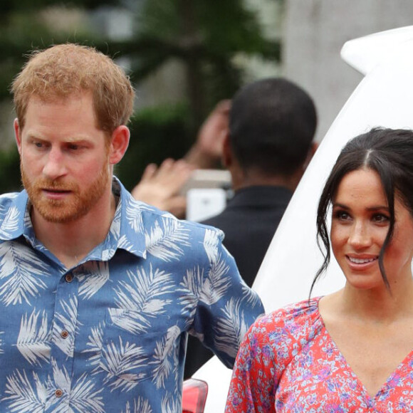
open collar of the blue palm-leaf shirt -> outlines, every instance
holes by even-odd
[[[119,201],[108,236],[91,251],[87,259],[107,261],[117,249],[124,249],[145,258],[145,231],[142,220],[145,204],[137,202],[116,177],[113,177],[112,191]],[[1,202],[2,199],[4,202]],[[38,243],[33,234],[30,207],[26,190],[0,196],[0,241],[25,236],[32,245]]]

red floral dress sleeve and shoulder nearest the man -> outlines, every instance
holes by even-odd
[[[288,369],[291,360],[323,328],[318,299],[287,305],[253,323],[236,356],[225,413],[276,412],[282,378],[288,382],[298,374]]]

